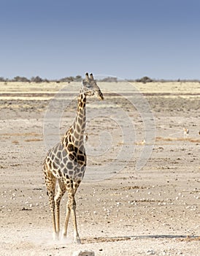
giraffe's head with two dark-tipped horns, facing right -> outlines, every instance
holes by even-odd
[[[93,79],[93,74],[90,74],[90,77],[88,73],[85,74],[85,79],[82,80],[82,91],[85,95],[104,99],[99,86],[97,86],[96,81]]]

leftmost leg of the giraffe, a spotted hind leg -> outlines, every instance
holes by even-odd
[[[49,203],[50,203],[50,211],[52,214],[52,222],[53,222],[53,238],[58,238],[58,232],[56,230],[55,225],[55,184],[56,184],[56,178],[53,176],[53,174],[48,169],[44,169],[45,174],[45,184],[47,186],[47,195],[49,197]]]

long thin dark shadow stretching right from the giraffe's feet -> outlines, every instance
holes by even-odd
[[[183,236],[183,235],[149,235],[149,236],[102,236],[94,238],[82,238],[82,244],[106,243],[116,241],[133,241],[139,239],[177,239],[180,241],[200,241],[200,236]]]

